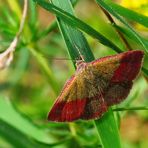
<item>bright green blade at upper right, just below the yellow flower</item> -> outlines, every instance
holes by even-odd
[[[148,27],[148,17],[144,16],[142,14],[139,14],[137,12],[134,12],[130,9],[124,8],[120,5],[117,5],[112,2],[108,2],[108,4],[121,16],[130,19],[132,21],[135,21],[145,27]]]

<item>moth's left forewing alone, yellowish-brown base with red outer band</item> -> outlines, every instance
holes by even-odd
[[[66,82],[60,96],[57,98],[49,112],[48,120],[70,122],[79,119],[83,114],[86,104],[86,98],[83,98],[83,95],[81,95],[84,89],[83,87],[84,85],[81,87],[79,86],[77,77],[72,76]]]

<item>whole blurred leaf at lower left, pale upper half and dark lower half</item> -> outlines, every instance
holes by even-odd
[[[0,136],[16,148],[49,148],[71,140],[71,137],[55,140],[46,130],[19,113],[3,96],[0,96]]]

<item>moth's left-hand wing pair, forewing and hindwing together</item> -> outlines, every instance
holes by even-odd
[[[84,77],[84,75],[86,77]],[[90,80],[86,80],[90,78]],[[92,80],[91,80],[92,79]],[[48,114],[49,121],[70,122],[78,119],[99,118],[107,111],[101,92],[95,90],[93,76],[82,73],[73,76],[64,86]],[[94,92],[93,92],[94,91]],[[95,94],[90,96],[90,94]]]

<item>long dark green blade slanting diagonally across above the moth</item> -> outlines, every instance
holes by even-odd
[[[77,27],[80,30],[86,32],[88,35],[92,36],[93,38],[96,38],[99,40],[100,43],[103,45],[110,47],[111,49],[115,50],[116,52],[120,53],[122,50],[117,47],[113,42],[108,40],[105,36],[97,32],[95,29],[87,25],[86,23],[82,22],[80,19],[74,17],[73,15],[65,12],[64,10],[54,6],[53,4],[47,3],[42,0],[33,0],[34,2],[37,2],[40,6],[42,6],[44,9],[56,14],[58,17],[62,18],[64,22],[69,24],[70,26]]]

